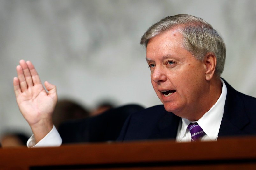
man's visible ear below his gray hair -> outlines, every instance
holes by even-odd
[[[205,54],[203,62],[205,67],[205,79],[207,81],[210,81],[215,72],[217,62],[216,56],[213,53],[208,52],[207,54]]]

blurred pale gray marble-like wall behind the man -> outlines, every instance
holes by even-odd
[[[35,65],[59,99],[93,111],[99,103],[161,104],[150,82],[143,33],[163,17],[191,14],[223,37],[222,77],[256,97],[254,0],[1,0],[0,135],[31,130],[19,112],[12,80],[20,59]]]

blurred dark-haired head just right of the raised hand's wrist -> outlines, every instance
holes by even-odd
[[[90,112],[75,101],[62,99],[53,112],[53,124],[58,129],[62,122],[88,117]]]

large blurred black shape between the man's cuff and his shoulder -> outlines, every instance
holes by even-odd
[[[115,141],[126,118],[142,109],[144,108],[140,105],[124,105],[110,109],[98,116],[65,122],[59,127],[62,142],[67,144]]]

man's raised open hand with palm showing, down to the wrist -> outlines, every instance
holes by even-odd
[[[52,113],[57,103],[56,87],[47,81],[46,91],[34,65],[20,60],[16,67],[18,77],[13,79],[14,91],[20,112],[29,123],[36,142],[53,128]]]

